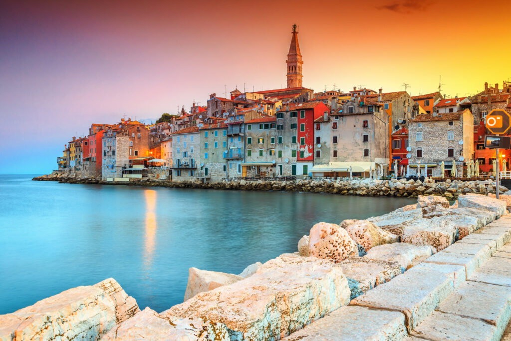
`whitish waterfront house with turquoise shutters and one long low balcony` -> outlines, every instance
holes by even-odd
[[[172,134],[172,180],[195,180],[200,153],[198,127],[188,127]]]

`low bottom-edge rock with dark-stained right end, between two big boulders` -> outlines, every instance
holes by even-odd
[[[215,335],[216,338],[210,337]],[[128,341],[128,340],[182,340],[182,341],[228,341],[228,332],[220,323],[214,324],[195,319],[180,319],[175,316],[162,316],[149,307],[138,312],[131,319],[112,328],[102,341]]]

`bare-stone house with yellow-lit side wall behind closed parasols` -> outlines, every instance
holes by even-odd
[[[410,120],[408,174],[418,175],[417,166],[421,163],[422,175],[425,175],[427,165],[428,176],[442,176],[440,164],[444,162],[446,175],[449,175],[455,162],[457,176],[461,176],[463,163],[472,160],[474,153],[473,122],[469,109],[424,114]]]

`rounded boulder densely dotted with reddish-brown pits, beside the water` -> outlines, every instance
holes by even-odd
[[[337,224],[320,222],[309,234],[309,255],[340,262],[358,255],[357,243]]]

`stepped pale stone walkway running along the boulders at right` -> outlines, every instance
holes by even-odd
[[[511,215],[352,300],[286,341],[511,341]]]

